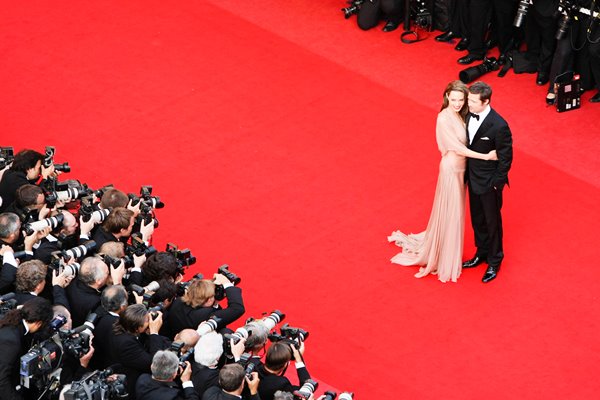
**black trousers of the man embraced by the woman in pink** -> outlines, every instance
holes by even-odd
[[[475,194],[469,186],[471,224],[475,232],[477,256],[486,258],[490,266],[499,266],[504,258],[502,248],[502,189]]]

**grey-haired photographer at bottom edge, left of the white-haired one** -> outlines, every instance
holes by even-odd
[[[185,362],[181,372],[182,388],[175,382],[180,372],[179,358],[169,350],[157,351],[150,367],[152,375],[142,374],[136,384],[138,400],[180,400],[199,399],[191,381],[192,366]]]

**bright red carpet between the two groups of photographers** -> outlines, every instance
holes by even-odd
[[[52,144],[92,187],[154,185],[157,244],[230,264],[247,315],[310,330],[312,375],[357,399],[594,398],[600,107],[557,114],[533,75],[485,76],[515,139],[502,271],[416,280],[386,236],[426,225],[460,54],[343,5],[6,4],[1,144]]]

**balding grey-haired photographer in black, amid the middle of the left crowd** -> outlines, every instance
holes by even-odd
[[[79,274],[67,286],[73,325],[79,326],[85,317],[100,305],[101,289],[108,280],[108,266],[99,257],[87,257],[81,263]]]

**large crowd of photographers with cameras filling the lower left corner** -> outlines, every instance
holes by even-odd
[[[307,331],[277,332],[278,310],[240,321],[227,265],[185,280],[190,251],[152,246],[164,204],[151,187],[92,190],[58,179],[70,168],[52,147],[0,151],[1,398],[315,398]]]

